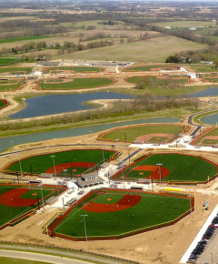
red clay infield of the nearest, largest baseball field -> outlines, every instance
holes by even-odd
[[[126,208],[134,207],[141,201],[141,198],[142,197],[139,195],[125,195],[124,198],[121,198],[117,203],[114,204],[98,204],[90,201],[84,205],[83,209],[95,213],[121,211]]]

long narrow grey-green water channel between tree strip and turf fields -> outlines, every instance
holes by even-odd
[[[37,141],[48,140],[53,138],[82,136],[86,134],[92,134],[95,132],[103,131],[105,129],[126,126],[126,125],[146,124],[146,123],[175,123],[179,121],[180,119],[178,118],[167,118],[167,117],[144,118],[134,121],[117,122],[117,123],[96,125],[90,127],[78,127],[78,128],[52,131],[46,133],[38,133],[33,135],[4,137],[4,138],[0,138],[0,152],[3,152],[7,147],[11,147],[12,144],[15,146],[19,144],[25,144],[28,142],[37,142]],[[10,143],[11,141],[14,142],[11,144]]]

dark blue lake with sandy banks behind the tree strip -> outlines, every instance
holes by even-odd
[[[84,102],[97,99],[133,99],[134,96],[111,93],[97,92],[71,95],[48,95],[36,96],[25,100],[26,107],[17,112],[10,118],[29,118],[43,117],[48,115],[87,110],[92,106],[84,105]]]

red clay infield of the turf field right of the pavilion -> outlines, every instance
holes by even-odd
[[[151,174],[147,178],[159,179],[159,166],[155,165],[143,165],[143,166],[136,166],[133,170],[144,170],[144,171],[151,171]],[[167,177],[170,174],[170,170],[168,168],[161,167],[161,176],[162,178]]]

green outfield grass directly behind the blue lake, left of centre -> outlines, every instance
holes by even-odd
[[[74,81],[61,84],[47,84],[44,81],[40,81],[39,86],[45,90],[70,90],[109,86],[113,82],[113,80],[108,78],[74,78]]]

